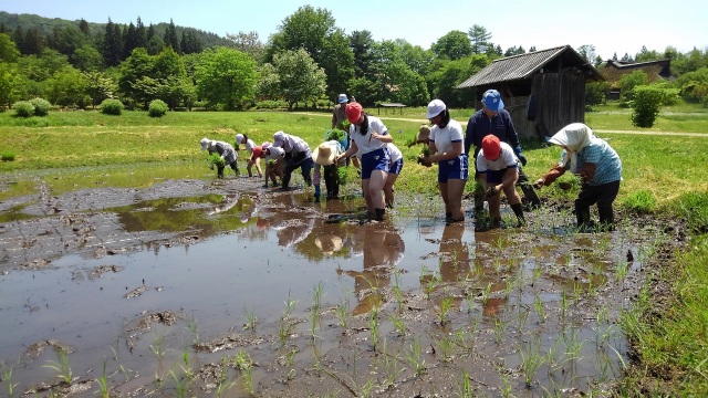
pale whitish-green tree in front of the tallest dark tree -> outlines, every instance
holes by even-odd
[[[324,70],[319,67],[303,50],[282,51],[275,54],[273,66],[280,80],[280,91],[288,103],[288,111],[300,102],[315,101],[326,91]]]

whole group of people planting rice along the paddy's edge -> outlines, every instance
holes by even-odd
[[[496,90],[488,90],[482,95],[481,104],[482,108],[469,118],[467,128],[462,132],[460,123],[450,117],[446,104],[440,100],[431,101],[427,106],[427,118],[433,127],[421,126],[412,144],[427,145],[427,154],[419,158],[423,165],[438,165],[438,189],[445,203],[447,223],[465,221],[462,195],[469,176],[468,159],[473,146],[475,212],[479,218],[483,202],[487,201],[492,228],[502,224],[502,192],[517,218],[516,226],[524,226],[524,207],[516,187],[521,188],[527,206],[537,208],[541,201],[534,188],[552,184],[566,170],[577,175],[582,182],[575,200],[577,226],[593,227],[590,207],[597,203],[601,224],[612,227],[612,203],[620,189],[622,161],[605,140],[595,137],[592,129],[582,123],[565,126],[549,139],[563,148],[560,163],[531,184],[522,170],[527,158],[511,115],[504,109],[501,94]],[[335,128],[346,128],[347,136],[332,136],[330,133]],[[275,186],[280,178],[282,188],[287,189],[292,172],[300,168],[305,185],[314,184],[315,200],[320,200],[322,179],[325,182],[326,199],[339,197],[337,168],[348,164],[352,158],[354,166],[361,169],[367,213],[378,221],[384,219],[386,208],[393,207],[394,184],[404,164],[403,154],[393,140],[378,117],[368,115],[360,103],[350,101],[345,94],[337,97],[332,130],[325,134],[324,142],[313,151],[304,139],[284,132],[277,132],[272,144],[263,143],[261,146],[256,146],[243,134],[236,136],[237,149],[243,144],[250,153],[247,166],[249,176],[252,176],[251,168],[256,166],[258,176],[262,177],[260,159],[264,158],[268,161],[266,186],[269,180]],[[227,165],[235,171],[238,170],[238,156],[228,143],[204,138],[201,149],[218,153]],[[314,176],[311,177],[313,168]]]

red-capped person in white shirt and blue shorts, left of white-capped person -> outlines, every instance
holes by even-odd
[[[391,169],[391,156],[386,144],[393,143],[394,139],[384,123],[378,117],[366,114],[358,103],[346,105],[346,117],[352,124],[350,126],[352,145],[344,154],[337,156],[336,160],[358,153],[366,209],[369,216],[377,221],[383,221],[386,209],[382,191]]]

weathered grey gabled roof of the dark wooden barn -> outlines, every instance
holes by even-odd
[[[570,45],[562,45],[494,60],[485,69],[460,83],[457,88],[525,80],[556,60],[561,62],[563,69],[575,66],[582,70],[587,76],[587,80],[604,80],[600,72],[587,63],[575,50]]]

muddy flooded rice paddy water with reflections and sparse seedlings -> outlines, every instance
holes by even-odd
[[[104,364],[116,396],[598,392],[656,238],[562,209],[476,233],[412,198],[369,222],[247,178],[38,191],[3,202],[0,387],[40,396],[93,397]]]

